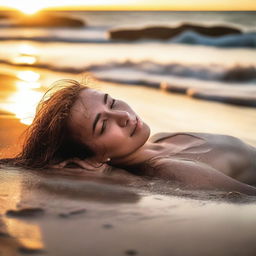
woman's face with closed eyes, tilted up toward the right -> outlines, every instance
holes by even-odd
[[[84,89],[71,109],[69,126],[75,139],[101,160],[127,156],[145,144],[150,128],[122,100]]]

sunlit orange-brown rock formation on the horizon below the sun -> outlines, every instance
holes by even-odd
[[[85,22],[79,19],[52,14],[20,16],[14,20],[14,27],[83,27]]]

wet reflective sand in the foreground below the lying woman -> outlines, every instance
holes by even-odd
[[[120,187],[104,184],[104,177],[98,183],[10,168],[1,170],[0,180],[4,255],[22,250],[45,255],[253,255],[256,250],[253,197],[178,192],[157,182]],[[21,209],[41,213],[6,215]]]

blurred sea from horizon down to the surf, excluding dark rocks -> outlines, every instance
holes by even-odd
[[[242,94],[256,97],[256,12],[59,11],[54,14],[80,19],[85,26],[24,28],[0,20],[0,70],[1,66],[24,65],[55,72],[89,73],[119,84],[220,88],[220,94],[221,88],[225,88],[225,93],[241,90]],[[113,40],[109,33],[182,24],[228,26],[242,33],[212,37],[186,30],[169,40],[136,41]]]

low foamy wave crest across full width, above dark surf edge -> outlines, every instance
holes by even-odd
[[[0,60],[2,64],[18,65],[9,60]],[[91,72],[94,74],[110,74],[119,73],[125,77],[126,74],[138,74],[140,82],[144,77],[158,76],[166,78],[168,76],[192,78],[204,81],[218,81],[225,83],[248,83],[256,84],[256,67],[234,65],[225,67],[221,65],[185,65],[179,63],[160,64],[152,61],[125,61],[125,62],[109,62],[104,64],[92,64],[80,67],[61,67],[47,63],[36,63],[33,65],[20,64],[19,66],[29,66],[48,69],[57,72],[83,73]],[[143,79],[141,79],[143,78]],[[133,83],[130,80],[129,83]],[[136,81],[137,83],[137,81]]]

